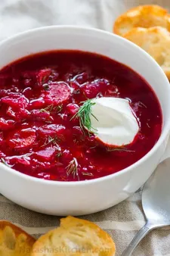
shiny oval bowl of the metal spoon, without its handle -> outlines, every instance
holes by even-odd
[[[159,226],[170,224],[170,158],[162,161],[145,183],[142,192],[144,214],[150,223]]]

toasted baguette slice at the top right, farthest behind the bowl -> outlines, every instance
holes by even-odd
[[[119,16],[113,25],[113,32],[123,36],[134,27],[164,27],[170,31],[170,15],[158,5],[140,5]]]

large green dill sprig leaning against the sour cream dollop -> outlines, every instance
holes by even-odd
[[[71,120],[75,117],[79,117],[79,125],[83,131],[86,128],[88,131],[94,130],[91,131],[91,133],[96,133],[97,130],[91,126],[90,118],[91,115],[97,120],[94,114],[91,113],[91,107],[95,105],[95,102],[92,102],[91,99],[88,99],[87,101],[82,101],[81,103],[83,103],[83,105],[80,106],[79,111],[71,118]]]

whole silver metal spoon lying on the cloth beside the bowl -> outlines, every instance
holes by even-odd
[[[170,158],[162,161],[142,192],[142,206],[147,223],[134,236],[122,256],[130,256],[141,239],[152,229],[170,225]]]

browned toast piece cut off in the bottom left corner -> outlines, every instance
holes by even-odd
[[[29,256],[34,242],[36,242],[36,239],[29,236],[18,226],[0,220],[1,256]]]

